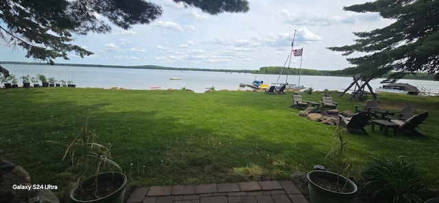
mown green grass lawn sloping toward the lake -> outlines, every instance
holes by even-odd
[[[338,97],[339,110],[354,110],[364,101]],[[112,155],[137,185],[198,184],[288,179],[313,165],[335,169],[324,160],[335,126],[298,117],[292,93],[265,95],[244,91],[134,91],[99,88],[0,89],[0,149],[24,167],[33,183],[65,186],[59,174],[65,148],[91,117],[99,143],[111,143]],[[319,101],[320,93],[302,95]],[[400,110],[416,104],[429,118],[418,131],[426,138],[345,134],[351,141],[353,176],[371,157],[403,156],[416,163],[439,188],[439,97],[380,95],[380,106]],[[131,165],[132,164],[132,165]],[[144,167],[143,167],[144,166]]]

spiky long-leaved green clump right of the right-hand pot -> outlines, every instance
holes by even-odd
[[[403,158],[375,159],[361,172],[364,186],[384,202],[423,202],[427,189],[425,172]]]

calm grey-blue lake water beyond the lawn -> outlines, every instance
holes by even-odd
[[[227,89],[237,90],[240,83],[251,84],[256,78],[265,84],[271,84],[278,80],[279,75],[264,75],[250,73],[229,73],[212,71],[176,71],[176,70],[152,70],[152,69],[119,69],[101,67],[66,67],[51,65],[27,65],[27,64],[1,64],[16,77],[22,75],[36,76],[43,74],[46,77],[55,77],[56,80],[72,80],[77,87],[92,88],[129,88],[150,90],[151,87],[160,86],[160,89],[181,89],[187,88],[195,93],[204,93],[212,86],[216,90]],[[169,77],[181,77],[182,80],[169,80]],[[278,82],[298,84],[298,75],[282,75]],[[369,82],[372,88],[382,86],[379,82],[383,79]],[[300,76],[300,86],[312,87],[316,91],[337,90],[343,91],[351,82],[352,77],[328,77],[328,76]],[[429,80],[399,80],[402,83],[409,83],[413,86],[427,88],[427,90],[438,93],[439,82]],[[21,80],[19,80],[21,84]],[[245,88],[240,88],[245,89]]]

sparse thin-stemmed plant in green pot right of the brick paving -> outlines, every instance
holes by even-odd
[[[335,141],[333,149],[327,154],[325,159],[336,152],[336,173],[324,170],[310,171],[307,174],[309,198],[311,202],[352,202],[357,193],[357,185],[352,180],[340,175],[342,167],[342,154],[344,147],[349,141],[344,142],[342,136],[342,127],[339,125],[335,129]],[[347,165],[348,169],[351,165]]]

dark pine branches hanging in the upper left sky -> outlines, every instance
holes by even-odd
[[[174,0],[186,7],[197,7],[209,14],[247,12],[246,0]],[[45,60],[69,60],[74,52],[80,57],[93,54],[73,45],[72,34],[105,34],[111,27],[103,19],[123,29],[148,24],[158,19],[160,5],[145,0],[2,0],[0,2],[0,41],[22,47],[25,57]]]

